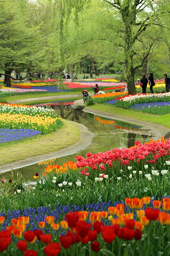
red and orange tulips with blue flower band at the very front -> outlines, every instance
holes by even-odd
[[[115,202],[112,206],[105,202],[82,206],[81,211],[71,206],[68,212],[69,208],[26,208],[24,215],[20,211],[8,212],[6,219],[2,214],[0,250],[13,255],[23,252],[25,256],[103,255],[104,251],[125,255],[128,248],[127,255],[134,255],[142,248],[145,255],[153,255],[155,250],[166,254],[163,243],[169,239],[170,216],[164,211],[170,209],[169,197],[152,202],[150,197],[126,198],[125,204]],[[63,213],[67,213],[64,220]]]

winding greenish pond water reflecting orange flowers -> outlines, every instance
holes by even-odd
[[[85,149],[79,150],[75,154],[62,156],[56,159],[46,160],[34,165],[22,167],[13,171],[14,177],[18,171],[29,180],[33,180],[33,175],[36,172],[41,174],[47,165],[63,165],[67,161],[75,161],[76,155],[85,156],[87,152],[98,153],[111,150],[113,148],[127,148],[134,146],[135,141],[141,143],[148,142],[153,134],[149,130],[144,130],[142,127],[135,124],[129,124],[118,120],[108,119],[102,116],[94,115],[84,111],[78,111],[71,106],[46,106],[54,108],[58,115],[64,119],[81,123],[88,127],[94,133],[91,144]],[[1,174],[2,176],[11,175],[11,171]]]

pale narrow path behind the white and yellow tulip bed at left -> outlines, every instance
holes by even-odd
[[[35,102],[35,101],[45,101],[45,100],[60,100],[60,99],[72,99],[76,97],[83,97],[82,93],[77,94],[66,94],[66,95],[54,95],[54,96],[44,96],[44,97],[37,97],[37,98],[29,98],[29,99],[22,99],[22,100],[15,100],[10,101],[10,104],[22,104],[22,102]]]

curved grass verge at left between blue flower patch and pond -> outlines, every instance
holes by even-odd
[[[31,141],[18,142],[0,149],[0,166],[19,160],[59,151],[80,140],[80,130],[76,123],[63,120],[63,127],[57,131],[35,137]]]

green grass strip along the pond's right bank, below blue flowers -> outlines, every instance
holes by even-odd
[[[110,104],[96,104],[96,105],[90,106],[90,108],[113,113],[113,114],[123,115],[129,118],[133,118],[141,121],[152,122],[152,123],[160,124],[167,128],[170,128],[170,114],[152,115],[152,114],[135,111],[132,109],[116,108],[114,106],[111,106]]]

